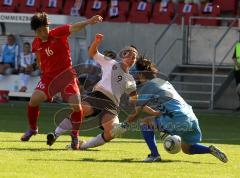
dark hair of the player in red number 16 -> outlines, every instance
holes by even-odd
[[[37,12],[31,18],[31,29],[36,31],[40,27],[46,27],[49,25],[48,17],[45,12]]]

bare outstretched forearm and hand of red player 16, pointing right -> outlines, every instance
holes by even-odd
[[[100,15],[95,15],[95,16],[91,17],[90,19],[87,19],[83,22],[77,22],[70,27],[70,33],[79,32],[83,28],[85,28],[87,25],[93,25],[96,23],[100,23],[100,22],[102,22],[102,20],[103,20],[103,18]]]

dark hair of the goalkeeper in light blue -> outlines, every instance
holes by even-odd
[[[153,79],[157,77],[158,69],[157,66],[146,59],[144,55],[140,55],[136,62],[136,72],[143,74],[146,79]]]

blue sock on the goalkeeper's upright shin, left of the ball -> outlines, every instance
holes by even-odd
[[[148,148],[151,151],[152,156],[159,156],[157,149],[157,142],[154,134],[154,129],[148,125],[141,125],[142,135],[145,139],[145,142],[148,145]]]

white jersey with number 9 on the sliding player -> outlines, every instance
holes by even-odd
[[[136,82],[132,75],[126,73],[121,64],[101,53],[93,57],[102,68],[102,78],[94,87],[94,90],[104,93],[112,101],[119,105],[121,96],[136,91]]]

